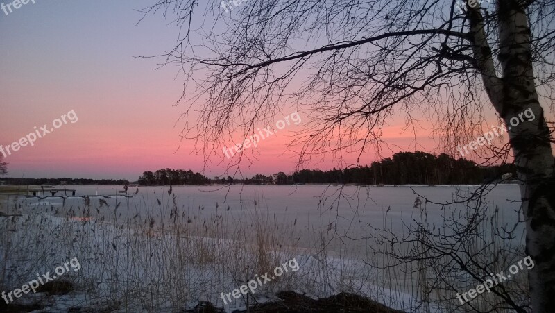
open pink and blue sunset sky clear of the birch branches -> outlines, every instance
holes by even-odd
[[[137,58],[163,53],[178,38],[178,28],[160,15],[139,22],[137,10],[154,2],[36,0],[8,15],[0,10],[0,145],[30,136],[17,151],[0,152],[9,177],[133,181],[162,168],[233,176],[223,154],[205,160],[194,142],[180,142],[185,107],[174,106],[182,92],[178,68]],[[240,175],[291,173],[297,159],[287,141],[294,130],[287,126],[260,142],[256,160],[241,166]],[[33,146],[30,134],[40,134]],[[385,137],[398,146],[414,139],[394,119]],[[420,150],[432,149],[427,135],[419,139]],[[384,156],[392,153],[385,149]],[[375,151],[368,151],[361,161],[373,160]],[[310,167],[334,166],[326,159]]]

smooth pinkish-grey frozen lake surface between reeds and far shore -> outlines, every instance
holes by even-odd
[[[77,195],[113,195],[123,189],[121,185],[71,186]],[[241,221],[252,220],[254,216],[264,217],[273,225],[289,226],[300,237],[300,246],[314,248],[325,245],[336,253],[358,253],[366,242],[348,238],[368,236],[369,226],[382,228],[387,212],[387,226],[395,232],[415,219],[419,210],[413,210],[417,197],[427,209],[427,222],[441,225],[443,214],[450,214],[448,207],[438,203],[452,201],[457,194],[475,192],[479,186],[328,186],[328,185],[233,185],[233,186],[177,186],[173,187],[180,215],[191,223],[207,221],[210,217],[223,216],[231,226]],[[138,187],[139,193],[133,198],[91,198],[93,218],[116,217],[121,221],[128,217],[144,220],[153,217],[160,225],[170,217],[173,198],[169,187]],[[135,194],[137,187],[130,187]],[[431,202],[426,202],[427,198]],[[106,201],[101,205],[99,199]],[[518,221],[520,203],[517,185],[497,185],[484,196],[490,208],[499,208],[501,223],[513,225]],[[160,204],[158,203],[160,201]],[[34,210],[83,209],[83,198],[68,198],[65,205],[60,198],[26,199],[28,207]],[[119,208],[114,209],[120,203]],[[463,204],[461,210],[468,210]],[[81,212],[83,214],[83,212]],[[79,213],[77,214],[79,215]],[[248,225],[245,225],[248,232]],[[320,235],[318,235],[320,234]],[[246,234],[248,235],[248,234]],[[323,236],[325,235],[325,236]],[[293,235],[291,234],[291,239]],[[363,249],[366,251],[366,248]]]

